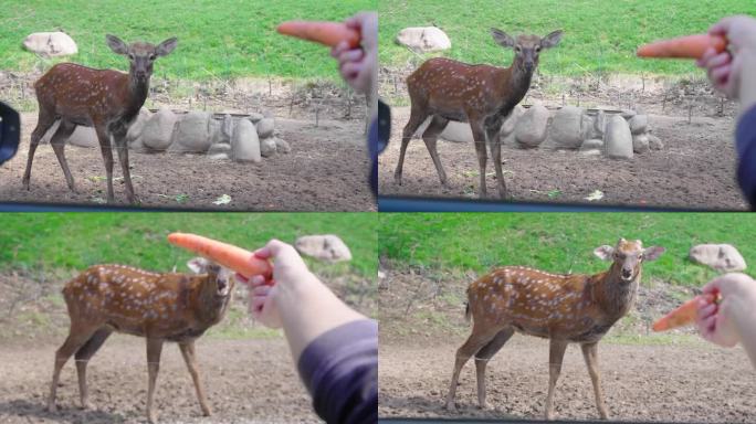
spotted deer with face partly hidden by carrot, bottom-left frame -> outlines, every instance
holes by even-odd
[[[233,274],[201,257],[187,264],[196,274],[158,274],[124,265],[96,265],[63,288],[71,329],[55,352],[48,409],[55,410],[61,369],[75,354],[82,407],[88,407],[86,364],[113,331],[147,339],[147,417],[155,423],[153,399],[165,341],[178,343],[202,413],[211,414],[200,382],[195,340],[225,315]]]

